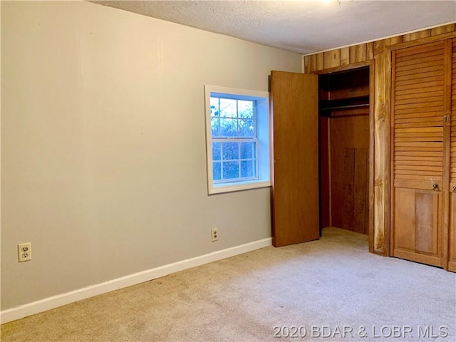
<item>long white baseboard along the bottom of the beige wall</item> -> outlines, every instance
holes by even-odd
[[[128,276],[123,276],[122,278],[105,281],[101,284],[83,287],[82,289],[67,292],[66,294],[58,294],[46,299],[41,299],[40,301],[33,301],[32,303],[1,311],[0,322],[7,323],[10,321],[15,321],[19,318],[24,318],[26,316],[38,314],[43,311],[55,309],[58,306],[71,304],[75,301],[81,301],[82,299],[98,296],[99,294],[105,294],[110,291],[123,289],[135,284],[140,284],[144,281],[157,279],[162,276],[166,276],[167,274],[172,274],[178,271],[183,271],[185,269],[190,269],[195,266],[208,264],[212,261],[234,257],[238,254],[243,254],[246,252],[254,251],[255,249],[271,246],[271,243],[271,238],[262,239],[255,242],[250,242],[249,244],[242,244],[237,247],[231,247],[228,249],[223,249],[222,251],[205,254],[200,257],[177,261],[173,264],[167,264],[155,269],[148,269],[146,271],[130,274]]]

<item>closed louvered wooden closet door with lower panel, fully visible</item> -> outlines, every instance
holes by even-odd
[[[442,264],[445,42],[393,51],[393,257]],[[446,266],[446,265],[445,265]]]

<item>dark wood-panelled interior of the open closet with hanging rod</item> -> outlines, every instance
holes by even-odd
[[[370,67],[318,76],[320,232],[369,232]]]

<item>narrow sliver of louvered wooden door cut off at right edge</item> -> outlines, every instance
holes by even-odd
[[[450,123],[450,245],[448,249],[448,270],[456,272],[456,39],[452,40],[452,87]]]

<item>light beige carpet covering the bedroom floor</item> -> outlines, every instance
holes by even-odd
[[[1,341],[454,342],[455,327],[455,274],[326,228],[6,323]]]

